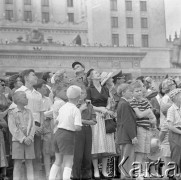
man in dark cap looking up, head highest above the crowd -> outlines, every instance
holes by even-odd
[[[82,63],[75,61],[72,63],[72,69],[75,72],[75,78],[72,81],[87,86],[88,83],[86,80],[85,66]]]

